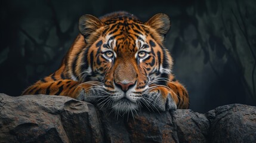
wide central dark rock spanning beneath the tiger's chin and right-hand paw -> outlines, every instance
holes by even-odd
[[[139,111],[134,117],[116,116],[100,110],[106,142],[178,142],[176,127],[169,112]]]

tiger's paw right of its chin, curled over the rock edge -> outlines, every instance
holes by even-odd
[[[169,111],[177,109],[177,105],[175,104],[175,101],[172,99],[170,93],[165,94],[165,92],[155,90],[144,95],[144,97],[144,99],[147,100],[146,106],[151,106],[150,108],[153,110]]]

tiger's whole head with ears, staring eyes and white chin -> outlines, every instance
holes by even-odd
[[[119,12],[97,18],[83,15],[79,30],[86,47],[79,54],[76,70],[80,82],[91,82],[101,105],[116,111],[137,110],[152,85],[165,85],[172,58],[163,41],[170,27],[166,14],[141,22]]]

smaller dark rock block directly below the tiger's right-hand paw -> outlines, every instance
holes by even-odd
[[[142,112],[129,120],[131,142],[178,142],[177,128],[170,113]]]

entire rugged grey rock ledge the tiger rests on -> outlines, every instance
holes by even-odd
[[[0,142],[256,142],[256,107],[118,117],[69,97],[0,94]]]

